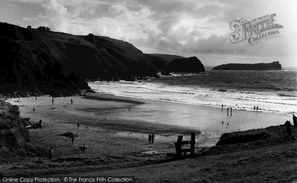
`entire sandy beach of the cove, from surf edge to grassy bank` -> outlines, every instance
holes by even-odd
[[[21,117],[30,117],[32,123],[43,120],[43,129],[29,130],[32,143],[46,148],[53,146],[59,157],[69,154],[88,157],[154,154],[163,158],[165,152],[174,151],[173,142],[178,135],[190,139],[190,133],[195,132],[196,147],[213,146],[223,133],[280,125],[292,118],[236,109],[232,110],[231,116],[230,110],[227,115],[226,109],[100,93],[54,98],[53,105],[51,99],[42,96],[37,100],[30,97],[6,101],[18,105]],[[73,146],[70,139],[58,136],[68,131],[78,135]],[[151,133],[155,134],[154,144],[148,144],[148,134]],[[87,144],[88,153],[78,150],[83,143]]]

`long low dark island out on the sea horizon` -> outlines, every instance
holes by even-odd
[[[279,62],[258,64],[223,64],[212,68],[212,70],[253,70],[253,71],[278,71],[282,70]]]

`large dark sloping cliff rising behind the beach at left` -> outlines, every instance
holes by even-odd
[[[25,29],[0,23],[0,93],[65,96],[89,89],[85,79],[156,76],[165,61],[132,44],[89,34]]]

